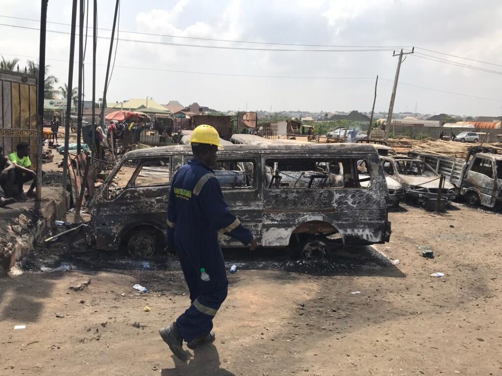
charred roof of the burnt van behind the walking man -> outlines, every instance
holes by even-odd
[[[146,156],[157,156],[167,152],[187,152],[191,151],[190,145],[170,145],[149,147],[146,149],[137,149],[128,151],[124,154],[124,158],[141,158]],[[286,151],[286,150],[310,150],[310,151],[330,151],[330,152],[367,152],[376,153],[376,149],[371,144],[358,144],[358,143],[330,143],[330,144],[260,144],[260,145],[246,145],[246,144],[231,144],[225,145],[224,149],[220,149],[221,153],[227,154],[232,151]]]

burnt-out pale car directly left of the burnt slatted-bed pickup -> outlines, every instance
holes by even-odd
[[[436,199],[439,190],[439,174],[423,160],[406,156],[381,156],[381,163],[386,176],[400,183],[405,198],[417,205],[423,205],[429,199]],[[455,199],[455,187],[444,182],[441,197],[447,205]]]

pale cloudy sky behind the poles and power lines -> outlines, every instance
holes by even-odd
[[[0,55],[19,57],[21,69],[39,56],[39,31],[5,25],[38,29],[38,22],[19,18],[39,20],[40,3],[23,0],[20,7],[19,0],[0,0]],[[98,27],[111,29],[115,2],[97,3]],[[70,36],[64,33],[70,27],[54,23],[70,24],[71,7],[70,0],[49,0],[47,30],[62,32],[47,33],[46,59],[57,86],[68,80]],[[499,116],[501,17],[499,0],[121,0],[107,99],[152,97],[162,104],[197,102],[221,111],[370,111],[379,75],[375,111],[388,111],[399,59],[393,51],[415,47],[401,66],[394,112]],[[103,93],[110,34],[98,31],[97,98]],[[89,27],[85,99],[91,98],[91,35]],[[76,86],[76,69],[73,82]]]

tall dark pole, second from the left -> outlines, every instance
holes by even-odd
[[[68,92],[66,93],[66,119],[64,127],[64,156],[63,156],[63,202],[66,207],[66,184],[68,179],[68,144],[70,143],[70,116],[73,88],[73,59],[75,58],[75,29],[77,25],[77,0],[73,0],[71,13],[71,31],[70,31],[70,59],[68,66]]]

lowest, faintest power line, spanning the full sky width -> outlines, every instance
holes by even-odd
[[[25,55],[14,55],[14,54],[2,54],[0,55],[7,55],[7,56],[18,56],[18,57],[23,57],[23,58],[28,58],[28,59],[33,59],[32,56],[25,56]],[[63,62],[67,63],[67,60],[59,60],[59,59],[47,59],[51,61],[58,61],[58,62]],[[106,66],[105,64],[96,64],[100,66]],[[249,74],[232,74],[232,73],[216,73],[216,72],[197,72],[197,71],[181,71],[181,70],[171,70],[171,69],[160,69],[160,68],[141,68],[141,67],[128,67],[128,66],[119,66],[116,65],[116,68],[122,68],[122,69],[135,69],[135,70],[145,70],[145,71],[154,71],[154,72],[167,72],[167,73],[185,73],[185,74],[198,74],[198,75],[207,75],[207,76],[227,76],[227,77],[248,77],[248,78],[285,78],[285,79],[306,79],[306,80],[374,80],[374,77],[331,77],[331,76],[269,76],[269,75],[249,75]],[[394,82],[393,80],[389,80],[386,78],[380,78],[383,81],[388,81],[388,82]],[[405,82],[400,82],[400,85],[406,85],[406,86],[411,86],[411,87],[416,87],[420,89],[425,89],[425,90],[431,90],[431,91],[437,91],[440,93],[446,93],[446,94],[453,94],[453,95],[459,95],[462,97],[468,97],[468,98],[475,98],[475,99],[483,99],[483,100],[489,100],[489,101],[494,101],[494,102],[502,102],[500,99],[493,99],[493,98],[485,98],[485,97],[479,97],[475,95],[469,95],[469,94],[462,94],[462,93],[455,93],[452,91],[446,91],[446,90],[441,90],[441,89],[434,89],[430,87],[425,87],[425,86],[419,86],[419,85],[413,85],[413,84],[408,84]]]

